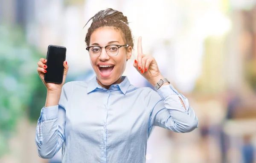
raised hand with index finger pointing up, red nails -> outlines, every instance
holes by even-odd
[[[145,55],[142,52],[141,37],[138,39],[138,55],[137,60],[134,60],[134,67],[145,77],[152,85],[154,85],[162,75],[158,69],[157,62],[151,55]]]

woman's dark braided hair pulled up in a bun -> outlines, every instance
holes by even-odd
[[[124,16],[122,12],[113,9],[101,10],[91,17],[85,26],[90,20],[93,20],[93,22],[91,23],[85,37],[85,43],[87,46],[89,46],[90,36],[93,31],[101,27],[110,26],[121,31],[125,44],[128,44],[132,48],[134,47],[134,41],[131,35],[131,29],[128,26],[129,23],[127,17]]]

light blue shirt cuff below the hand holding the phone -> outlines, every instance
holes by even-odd
[[[42,121],[58,118],[58,105],[42,108]]]

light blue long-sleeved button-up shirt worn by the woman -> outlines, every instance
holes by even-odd
[[[93,77],[64,84],[58,106],[42,108],[35,141],[42,158],[63,147],[62,163],[145,163],[154,126],[191,132],[198,118],[171,84],[155,92],[123,76],[105,89]]]

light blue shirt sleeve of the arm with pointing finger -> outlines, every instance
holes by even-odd
[[[198,128],[198,118],[192,107],[189,106],[188,99],[177,92],[171,84],[160,87],[157,92],[151,90],[148,97],[148,106],[152,108],[149,132],[154,126],[183,133]]]

